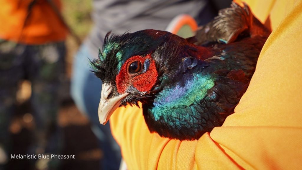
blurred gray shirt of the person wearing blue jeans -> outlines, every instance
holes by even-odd
[[[194,17],[204,5],[202,0],[94,0],[95,26],[85,43],[91,56],[96,58],[108,31],[123,34],[143,29],[165,30],[175,16]]]

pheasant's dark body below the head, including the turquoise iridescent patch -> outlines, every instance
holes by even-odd
[[[170,138],[198,139],[221,126],[246,91],[264,42],[248,38],[208,47],[205,60],[184,58],[176,82],[167,83],[143,105],[149,129]]]

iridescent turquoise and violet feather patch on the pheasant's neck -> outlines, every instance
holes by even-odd
[[[185,112],[188,106],[199,103],[207,94],[207,90],[214,86],[214,78],[209,74],[184,76],[174,87],[166,88],[156,95],[153,108],[149,110],[156,121],[166,116],[168,110],[177,110],[172,114]]]

